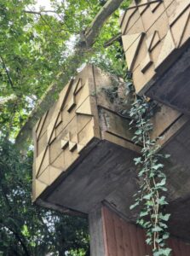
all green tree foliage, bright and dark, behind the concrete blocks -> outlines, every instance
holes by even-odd
[[[49,85],[63,88],[66,79],[74,75],[70,72],[71,65],[77,69],[91,62],[125,77],[121,39],[108,48],[105,44],[120,32],[118,16],[129,2],[125,0],[107,20],[93,47],[79,54],[78,49],[83,49],[86,43],[85,32],[106,0],[51,0],[49,10],[34,9],[34,0],[0,0],[0,251],[3,255],[65,255],[66,252],[89,255],[85,219],[32,205],[32,151],[21,156],[10,141],[14,142]]]

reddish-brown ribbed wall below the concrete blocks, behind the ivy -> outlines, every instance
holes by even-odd
[[[114,212],[102,207],[105,256],[146,256],[153,255],[145,243],[145,233],[134,224],[127,223]],[[189,256],[190,245],[170,239],[172,256]]]

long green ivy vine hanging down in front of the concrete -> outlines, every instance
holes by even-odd
[[[170,155],[159,154],[158,143],[150,136],[153,131],[151,109],[146,98],[138,96],[135,96],[135,102],[130,108],[130,125],[131,128],[135,127],[133,141],[142,145],[141,156],[134,159],[139,170],[140,189],[134,195],[135,203],[130,209],[141,208],[137,224],[146,230],[146,242],[153,247],[153,256],[169,256],[171,249],[165,241],[169,238],[167,221],[170,214],[164,211],[168,202],[164,195],[167,189],[162,161]]]

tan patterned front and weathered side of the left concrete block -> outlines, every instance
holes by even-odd
[[[129,120],[118,114],[118,107],[107,96],[105,89],[111,89],[112,83],[110,74],[88,65],[66,85],[55,105],[37,122],[33,132],[34,201],[40,197],[46,201],[43,191],[51,193],[51,189],[56,189],[55,179],[60,180],[64,172],[78,172],[77,163],[80,165],[85,157],[91,155],[94,161],[94,154],[99,152],[101,157],[105,141],[139,152],[126,129]],[[88,162],[83,160],[83,165]],[[94,167],[89,171],[94,172]]]

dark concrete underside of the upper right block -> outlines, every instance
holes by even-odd
[[[189,42],[188,48],[186,45],[186,50],[182,55],[180,55],[181,51],[182,49],[180,52],[175,51],[175,57],[179,55],[179,59],[164,74],[162,71],[158,72],[161,75],[148,83],[149,90],[147,90],[146,95],[158,102],[163,102],[171,108],[176,108],[182,113],[190,114]]]

